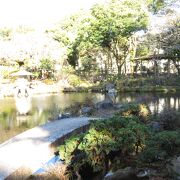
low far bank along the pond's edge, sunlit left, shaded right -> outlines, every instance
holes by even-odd
[[[0,98],[12,97],[14,96],[13,83],[10,84],[0,84]],[[145,86],[117,86],[117,92],[180,92],[180,86],[159,86],[159,85],[145,85]],[[64,86],[59,83],[45,84],[41,81],[33,82],[32,88],[30,88],[30,93],[33,95],[38,94],[49,94],[49,93],[71,93],[71,92],[95,92],[102,93],[105,92],[104,85],[94,85],[89,87],[73,87]]]

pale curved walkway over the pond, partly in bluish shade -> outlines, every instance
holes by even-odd
[[[50,144],[63,135],[88,124],[93,118],[56,120],[25,131],[0,144],[0,180],[20,167],[35,172],[53,156]]]

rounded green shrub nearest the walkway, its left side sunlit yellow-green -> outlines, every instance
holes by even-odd
[[[60,155],[74,172],[87,164],[98,172],[114,159],[113,153],[124,159],[140,152],[148,136],[149,129],[137,117],[96,120],[88,132],[73,136],[60,146]]]

